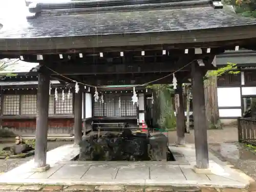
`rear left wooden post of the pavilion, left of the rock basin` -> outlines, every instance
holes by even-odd
[[[75,115],[75,124],[74,124],[74,134],[75,134],[75,144],[79,144],[82,139],[82,93],[83,86],[79,86],[78,93],[75,93],[74,101],[74,115]]]

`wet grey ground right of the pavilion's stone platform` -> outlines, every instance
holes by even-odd
[[[209,149],[221,160],[233,165],[233,168],[242,170],[256,180],[256,153],[254,150],[238,142],[210,143]]]

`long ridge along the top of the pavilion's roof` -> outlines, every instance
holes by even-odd
[[[219,1],[219,0],[217,0]],[[90,10],[104,10],[109,11],[116,9],[137,9],[142,8],[161,8],[163,6],[176,7],[176,6],[199,6],[210,5],[212,0],[92,0],[92,1],[77,1],[66,2],[61,4],[56,3],[32,3],[29,5],[29,11],[35,15],[44,11],[56,12],[56,11],[90,11]],[[34,15],[33,15],[34,16]]]

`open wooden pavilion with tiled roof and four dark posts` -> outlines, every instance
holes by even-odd
[[[38,2],[38,1],[37,1]],[[24,5],[25,6],[25,5]],[[76,84],[75,140],[82,92],[99,85],[178,81],[178,143],[184,141],[181,83],[193,79],[196,170],[209,166],[203,77],[224,50],[255,49],[256,20],[226,12],[219,0],[31,3],[27,15],[0,20],[0,57],[39,62],[35,167],[46,164],[50,77]],[[73,82],[75,81],[75,82]],[[76,83],[77,82],[77,83]],[[79,87],[79,91],[78,88]],[[180,113],[182,111],[182,113]]]

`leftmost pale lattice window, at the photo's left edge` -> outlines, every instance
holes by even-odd
[[[4,115],[19,115],[19,95],[4,96]]]

